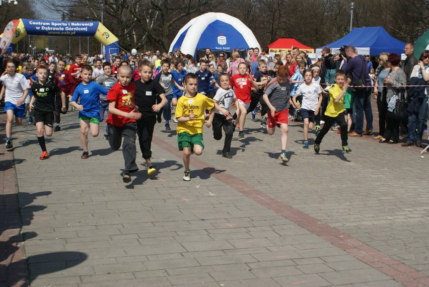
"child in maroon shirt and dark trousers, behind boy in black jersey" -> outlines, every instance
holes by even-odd
[[[61,130],[61,113],[65,114],[68,111],[68,103],[72,99],[73,92],[76,88],[76,82],[72,74],[65,69],[65,59],[58,59],[58,72],[54,75],[54,83],[61,89],[65,94],[65,112],[61,111],[62,101],[60,97],[55,99],[55,128],[54,131]]]

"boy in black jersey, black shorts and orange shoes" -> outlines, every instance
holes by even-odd
[[[49,69],[46,66],[40,65],[36,72],[38,81],[31,87],[33,97],[30,101],[30,112],[34,110],[37,140],[39,141],[40,148],[42,149],[42,155],[40,156],[41,160],[49,158],[49,154],[46,151],[46,143],[43,133],[46,133],[46,136],[52,135],[56,95],[61,96],[61,111],[66,111],[65,94],[57,85],[48,80],[48,73]]]

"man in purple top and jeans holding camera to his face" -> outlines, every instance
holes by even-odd
[[[354,130],[348,133],[348,136],[362,136],[363,134],[369,135],[373,131],[373,112],[371,109],[371,79],[368,74],[367,61],[364,56],[358,55],[353,46],[345,48],[344,64],[341,69],[344,70],[346,75],[351,76],[351,85],[353,88],[354,106],[353,113],[355,114]],[[367,128],[364,128],[364,113],[367,120]]]

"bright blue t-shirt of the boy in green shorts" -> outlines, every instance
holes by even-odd
[[[84,107],[83,111],[79,111],[79,116],[100,119],[100,94],[107,94],[109,90],[100,84],[91,81],[89,84],[79,84],[73,93],[71,102],[78,102]]]

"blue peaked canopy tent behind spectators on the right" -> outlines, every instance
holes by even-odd
[[[335,53],[343,45],[352,45],[360,55],[379,55],[382,52],[402,54],[405,43],[392,37],[383,27],[354,28],[347,35],[335,42],[326,44]],[[323,47],[316,48],[321,55]]]

